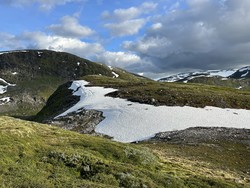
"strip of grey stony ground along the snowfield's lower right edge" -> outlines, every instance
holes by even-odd
[[[151,140],[169,143],[199,144],[216,141],[244,142],[250,145],[250,129],[225,127],[191,127],[180,131],[158,133]]]

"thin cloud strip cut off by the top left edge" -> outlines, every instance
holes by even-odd
[[[12,6],[27,6],[38,3],[43,10],[49,10],[56,5],[64,5],[71,2],[85,2],[86,0],[3,0],[1,4],[7,4]]]

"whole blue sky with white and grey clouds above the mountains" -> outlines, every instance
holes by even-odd
[[[249,0],[1,0],[0,51],[65,51],[151,78],[240,68]]]

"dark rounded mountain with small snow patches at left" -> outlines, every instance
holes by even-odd
[[[86,75],[144,79],[65,52],[0,52],[0,114],[35,115],[59,85]]]

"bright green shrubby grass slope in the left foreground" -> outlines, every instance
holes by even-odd
[[[241,187],[140,146],[0,117],[2,187]]]

